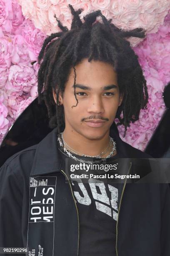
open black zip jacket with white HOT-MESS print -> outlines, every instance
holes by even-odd
[[[151,158],[114,131],[110,135],[125,159]],[[0,168],[0,247],[28,246],[27,255],[37,256],[42,251],[43,256],[78,254],[76,199],[60,167],[56,128],[5,161]],[[120,183],[118,209],[118,256],[170,256],[168,184]]]

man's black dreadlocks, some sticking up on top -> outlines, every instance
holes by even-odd
[[[38,56],[38,63],[43,59],[38,70],[38,103],[45,101],[49,117],[49,127],[57,127],[60,134],[65,128],[64,108],[58,105],[59,92],[63,96],[65,82],[73,67],[84,58],[90,62],[93,60],[111,64],[117,72],[117,82],[120,94],[124,93],[122,104],[118,107],[116,117],[118,125],[127,126],[139,119],[140,109],[147,108],[148,91],[143,70],[138,62],[138,56],[125,38],[145,38],[143,28],[135,28],[130,31],[120,29],[107,20],[100,10],[88,13],[80,20],[82,9],[74,10],[68,5],[73,15],[71,28],[62,26],[57,20],[61,32],[48,36]],[[97,17],[100,16],[100,20]],[[57,38],[57,39],[55,39]],[[74,95],[75,94],[74,79]],[[53,98],[52,89],[56,93],[56,101]],[[43,90],[43,93],[41,93]],[[78,104],[78,100],[77,100]],[[76,107],[75,106],[72,107]],[[120,116],[122,114],[122,117]]]

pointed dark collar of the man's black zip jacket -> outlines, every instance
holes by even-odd
[[[60,172],[61,159],[57,148],[57,128],[54,128],[45,138],[37,144],[35,157],[30,175],[49,174]],[[119,134],[110,129],[110,136],[116,141],[116,147],[122,158],[128,158],[127,151]]]

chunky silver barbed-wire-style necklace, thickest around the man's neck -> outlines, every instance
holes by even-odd
[[[85,161],[80,160],[80,159],[78,159],[76,156],[73,156],[73,155],[71,154],[70,151],[75,151],[75,150],[74,150],[73,148],[70,148],[70,146],[68,146],[67,143],[65,143],[65,141],[63,140],[62,133],[60,133],[60,134],[61,134],[62,139],[61,139],[61,137],[58,135],[57,140],[59,141],[60,146],[62,146],[64,152],[66,152],[67,156],[69,156],[69,157],[71,157],[72,159],[75,159],[75,160],[77,160],[77,161],[85,162]],[[63,140],[64,144],[70,148],[70,150],[67,150],[67,148],[65,148],[65,145],[63,145],[62,140]],[[113,154],[114,151],[116,150],[116,142],[115,142],[111,137],[110,137],[109,145],[110,145],[110,143],[113,144],[113,146],[112,146],[112,151],[111,151],[105,158],[110,158],[110,156],[112,156],[112,154]],[[108,146],[109,146],[109,145],[108,145]],[[108,146],[107,146],[107,147],[108,147]],[[106,150],[106,149],[105,149],[105,150]],[[105,151],[105,150],[104,150],[104,151]],[[88,155],[85,155],[85,154],[82,154],[82,156],[87,156],[87,157],[92,157],[92,158],[94,158],[94,157],[95,157],[95,158],[101,158],[101,154],[103,154],[104,151],[102,151],[102,152],[100,153],[100,155],[97,155],[97,156],[88,156]],[[78,151],[75,151],[75,152],[79,153],[79,155],[81,154],[81,153],[78,152]],[[74,153],[74,152],[72,152],[72,153]],[[74,153],[74,154],[75,154],[75,153]],[[104,159],[105,159],[105,158],[104,158]]]

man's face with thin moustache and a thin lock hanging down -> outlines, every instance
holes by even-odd
[[[110,130],[115,120],[122,96],[117,84],[117,74],[113,67],[101,61],[88,62],[83,59],[75,66],[76,81],[74,95],[74,69],[65,84],[63,97],[59,94],[60,104],[64,106],[65,129],[71,129],[88,139],[102,138]],[[53,92],[56,102],[56,95]],[[96,123],[97,122],[97,123]]]

